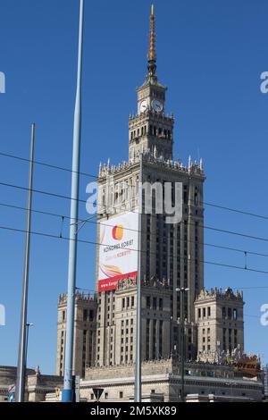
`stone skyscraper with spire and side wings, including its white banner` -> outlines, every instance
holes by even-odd
[[[138,253],[142,374],[147,377],[151,369],[155,369],[154,374],[163,374],[164,363],[171,366],[170,385],[173,387],[175,381],[177,389],[172,388],[172,397],[165,391],[167,400],[178,398],[180,388],[182,329],[177,290],[188,289],[183,312],[185,355],[193,362],[189,366],[199,370],[198,360],[205,362],[204,369],[211,370],[206,362],[226,364],[230,355],[239,360],[244,350],[242,294],[230,289],[204,289],[203,163],[189,158],[185,166],[173,159],[174,118],[165,111],[166,91],[156,74],[152,7],[147,76],[137,89],[138,112],[129,120],[129,160],[117,166],[108,160],[99,168],[96,296],[78,296],[76,300],[75,374],[85,376],[93,385],[97,378],[105,378],[105,395],[114,399],[133,395],[132,385],[127,391],[121,387],[125,386],[125,376],[134,375],[136,360]],[[177,184],[181,187],[179,202]],[[180,207],[179,220],[171,218],[166,201]],[[57,372],[63,374],[65,295],[59,299],[58,311]],[[143,381],[143,390],[151,391],[147,379]],[[162,388],[159,379],[154,390],[161,393]]]

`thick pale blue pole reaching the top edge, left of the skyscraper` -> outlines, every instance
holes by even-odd
[[[76,291],[76,266],[77,266],[77,223],[79,217],[79,192],[80,192],[80,138],[81,138],[81,76],[82,76],[82,49],[83,49],[83,23],[84,0],[80,0],[80,34],[77,73],[77,92],[73,123],[73,151],[71,172],[71,220],[69,241],[69,270],[68,270],[68,295],[67,295],[67,323],[65,340],[64,384],[63,402],[73,400],[73,335],[74,335],[74,305]]]

